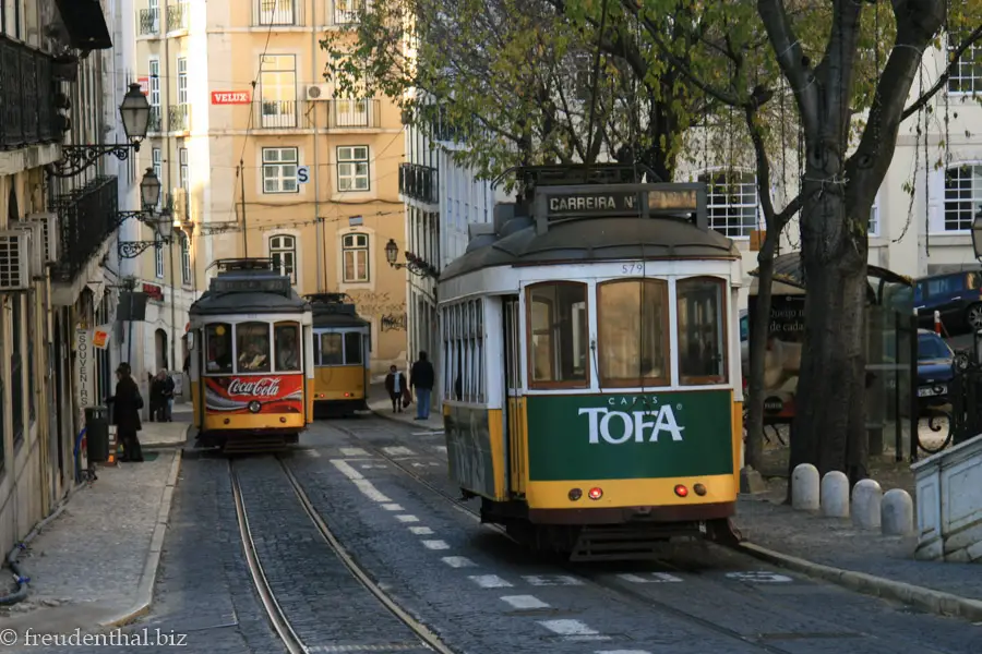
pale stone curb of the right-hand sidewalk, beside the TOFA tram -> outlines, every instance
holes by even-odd
[[[957,617],[972,622],[982,620],[982,602],[979,600],[970,600],[951,593],[866,574],[865,572],[853,572],[852,570],[814,564],[754,545],[753,543],[740,543],[735,546],[735,549],[754,558],[806,574],[807,577],[829,581],[858,593],[893,600],[939,616]]]

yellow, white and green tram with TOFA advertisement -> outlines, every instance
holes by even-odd
[[[519,170],[529,199],[440,278],[451,477],[482,521],[573,560],[731,536],[743,275],[705,185]]]

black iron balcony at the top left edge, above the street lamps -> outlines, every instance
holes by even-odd
[[[0,36],[0,149],[61,140],[49,55]]]

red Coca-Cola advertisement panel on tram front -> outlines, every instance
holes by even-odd
[[[303,413],[303,375],[205,377],[205,407],[220,413]]]

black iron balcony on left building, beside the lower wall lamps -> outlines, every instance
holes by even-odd
[[[55,281],[72,282],[116,232],[118,186],[115,177],[96,178],[55,201],[61,253],[51,271]]]

